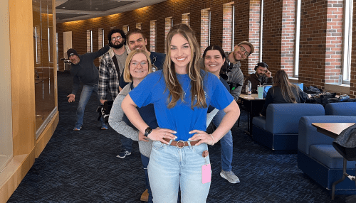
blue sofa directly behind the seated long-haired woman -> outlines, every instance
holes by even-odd
[[[253,118],[253,139],[272,150],[296,153],[299,119],[321,115],[325,115],[321,104],[269,104],[266,117]]]

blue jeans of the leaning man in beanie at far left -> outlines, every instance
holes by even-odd
[[[83,117],[84,117],[84,110],[85,106],[88,104],[88,101],[91,97],[91,94],[95,94],[95,96],[98,98],[98,105],[100,104],[100,97],[98,94],[98,84],[95,84],[94,86],[89,86],[89,85],[83,85],[82,92],[80,93],[80,99],[79,99],[79,104],[77,107],[77,116],[76,116],[76,123],[75,127],[80,128],[80,126],[83,125]],[[100,119],[101,125],[105,124],[103,121],[103,118]]]

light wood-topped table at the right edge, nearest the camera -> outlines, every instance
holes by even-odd
[[[316,131],[323,133],[331,138],[336,138],[346,128],[355,125],[355,123],[313,123],[312,126],[316,127]],[[333,189],[331,192],[331,199],[335,199],[335,186],[345,180],[349,175],[346,172],[347,160],[344,158],[342,167],[342,177],[340,180],[333,182]]]

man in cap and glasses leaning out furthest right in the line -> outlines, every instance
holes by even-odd
[[[246,58],[254,52],[253,45],[247,41],[242,41],[238,45],[235,45],[234,51],[226,54],[226,62],[228,65],[228,70],[226,75],[228,79],[226,82],[230,85],[230,93],[237,101],[239,99],[242,85],[244,84],[244,75],[241,71],[241,60],[246,60]]]

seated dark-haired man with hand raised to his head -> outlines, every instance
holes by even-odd
[[[242,86],[242,93],[246,94],[246,84],[248,80],[251,82],[251,92],[252,94],[257,94],[257,86],[259,84],[272,84],[273,83],[273,78],[272,78],[272,73],[268,70],[268,65],[266,62],[258,62],[258,64],[255,65],[255,71],[254,73],[248,75],[244,79],[244,85]]]

